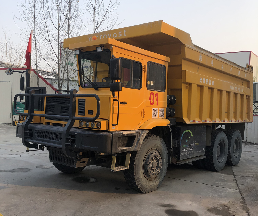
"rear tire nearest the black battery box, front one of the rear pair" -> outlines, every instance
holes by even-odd
[[[211,146],[206,146],[205,156],[207,170],[221,171],[224,168],[228,156],[228,139],[223,131],[212,132]]]

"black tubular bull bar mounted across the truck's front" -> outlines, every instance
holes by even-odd
[[[35,110],[35,98],[38,97],[57,97],[57,94],[35,94],[35,91],[33,89],[29,90],[29,94],[16,94],[14,96],[14,112],[16,114],[23,114],[27,115],[26,121],[17,127],[17,134],[21,134],[22,143],[27,148],[38,148],[37,144],[41,144],[44,146],[52,146],[56,148],[61,148],[65,155],[69,157],[80,157],[79,151],[71,150],[72,146],[72,139],[73,137],[69,136],[70,130],[72,129],[72,126],[74,125],[75,120],[81,120],[81,121],[95,121],[99,115],[100,115],[100,99],[99,96],[96,94],[77,94],[76,90],[71,89],[69,91],[69,94],[60,94],[58,97],[67,97],[69,98],[69,108],[66,106],[66,109],[68,108],[69,115],[50,115],[50,114],[40,114],[40,113],[34,113]],[[25,96],[29,97],[28,100],[28,113],[20,113],[16,110],[16,101],[18,96]],[[90,97],[95,98],[97,102],[97,111],[95,117],[87,118],[87,117],[78,117],[75,116],[76,113],[76,97]],[[59,106],[59,108],[61,108]],[[43,128],[43,130],[32,130],[34,127],[34,124],[31,125],[31,122],[33,121],[33,117],[45,117],[45,118],[54,118],[54,119],[67,119],[67,124],[65,127],[55,127],[51,128],[52,130],[47,130],[46,128]],[[36,124],[37,125],[37,124]],[[21,128],[20,128],[21,127]],[[29,129],[31,127],[31,129]],[[49,126],[46,126],[49,127]],[[33,132],[34,131],[34,132]],[[35,137],[35,138],[34,138]],[[37,137],[41,137],[40,140]],[[50,137],[50,138],[49,138]],[[45,138],[45,139],[43,139]],[[50,142],[47,142],[47,140],[50,140]],[[31,144],[32,143],[32,144]],[[77,147],[76,147],[77,148]],[[78,148],[77,148],[78,149]]]

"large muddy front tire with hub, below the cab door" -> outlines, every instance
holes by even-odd
[[[131,154],[129,169],[124,171],[125,181],[136,191],[155,191],[165,178],[167,165],[166,144],[160,137],[148,134],[140,150]]]

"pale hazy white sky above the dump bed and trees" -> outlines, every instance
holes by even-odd
[[[16,2],[0,0],[0,27],[7,25],[13,32],[19,31],[13,20]],[[258,55],[257,0],[121,0],[118,12],[124,22],[116,28],[163,20],[213,53],[252,50]],[[12,40],[18,40],[14,33]]]

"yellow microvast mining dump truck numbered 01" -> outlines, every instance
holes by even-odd
[[[28,104],[17,137],[27,148],[46,147],[58,170],[123,170],[131,188],[148,193],[168,164],[238,164],[253,118],[250,65],[193,45],[163,21],[65,39],[64,47],[77,55],[79,91],[15,96]]]

